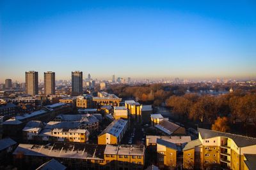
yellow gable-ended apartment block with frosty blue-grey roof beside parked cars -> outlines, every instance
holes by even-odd
[[[118,144],[123,138],[125,132],[127,131],[127,120],[118,119],[111,122],[111,124],[102,131],[98,136],[99,145],[107,144]]]

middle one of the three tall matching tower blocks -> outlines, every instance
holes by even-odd
[[[52,71],[44,73],[44,94],[55,94],[55,73]]]

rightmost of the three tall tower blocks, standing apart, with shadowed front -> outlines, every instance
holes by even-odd
[[[83,72],[72,71],[72,96],[83,94]]]

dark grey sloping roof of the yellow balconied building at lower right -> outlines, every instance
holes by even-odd
[[[209,129],[202,128],[198,128],[198,132],[200,133],[202,139],[209,139],[214,138],[216,136],[222,136],[232,139],[238,147],[256,145],[256,138],[241,136],[237,134],[230,134],[225,132],[212,131]]]

